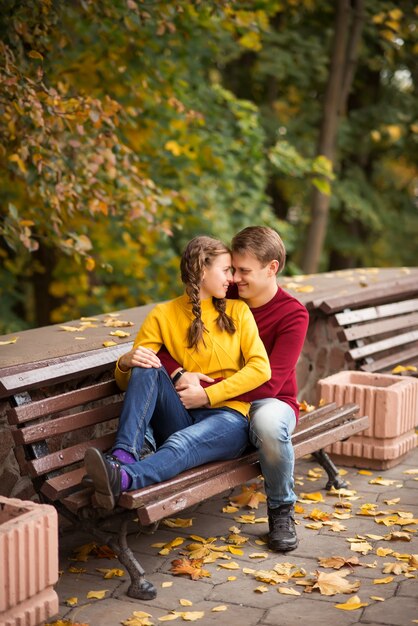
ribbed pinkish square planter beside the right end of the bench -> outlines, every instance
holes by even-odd
[[[363,433],[327,449],[337,463],[387,469],[417,445],[418,380],[344,371],[320,380],[318,390],[327,402],[355,402],[370,418],[370,427]]]

